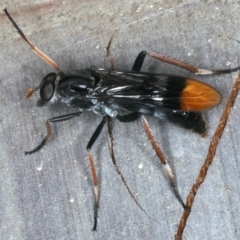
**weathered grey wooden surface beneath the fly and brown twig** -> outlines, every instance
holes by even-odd
[[[41,50],[69,72],[110,66],[106,46],[114,33],[115,67],[130,69],[141,50],[202,68],[240,65],[239,4],[201,1],[9,1],[1,3]],[[93,189],[86,145],[101,118],[86,112],[53,125],[40,152],[24,156],[45,134],[47,118],[71,112],[62,104],[35,107],[25,89],[52,71],[0,14],[0,235],[1,239],[173,239],[182,214],[140,121],[114,121],[115,155],[128,186],[151,219],[139,209],[114,170],[107,128],[93,147],[101,198],[98,231],[92,232]],[[228,65],[228,63],[231,63]],[[148,59],[145,71],[193,77]],[[216,87],[222,104],[205,114],[208,137],[148,118],[177,176],[183,199],[204,162],[211,136],[236,73],[198,79]],[[240,238],[239,97],[201,186],[183,239]],[[154,221],[155,219],[156,221]]]

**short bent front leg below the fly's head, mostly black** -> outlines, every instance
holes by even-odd
[[[36,148],[34,148],[32,151],[26,151],[25,155],[32,154],[34,152],[39,151],[46,144],[46,142],[52,136],[52,129],[51,129],[51,126],[50,126],[50,122],[66,121],[66,120],[69,120],[73,117],[80,116],[81,114],[82,114],[82,111],[79,111],[79,112],[69,113],[69,114],[65,114],[65,115],[61,115],[61,116],[58,116],[58,117],[48,119],[46,121],[47,135],[45,136],[45,138],[42,140],[42,142]]]

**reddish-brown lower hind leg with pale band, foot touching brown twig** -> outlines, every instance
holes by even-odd
[[[175,181],[174,181],[174,176],[173,176],[173,173],[172,173],[172,170],[170,168],[170,166],[168,165],[167,163],[167,159],[164,157],[160,147],[158,146],[153,134],[152,134],[152,131],[148,125],[148,122],[147,120],[145,119],[145,117],[142,116],[142,124],[143,124],[143,128],[148,136],[148,139],[149,141],[151,142],[152,146],[153,146],[153,149],[155,150],[160,162],[163,164],[166,172],[167,172],[167,175],[168,175],[168,178],[169,178],[169,182],[170,182],[170,185],[171,187],[173,188],[173,192],[176,196],[176,198],[178,199],[178,201],[181,203],[181,205],[183,206],[184,209],[187,209],[186,205],[184,204],[178,190],[177,190],[177,187],[176,187],[176,184],[175,184]]]

